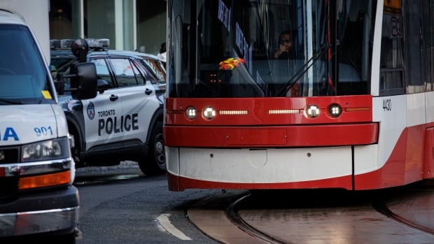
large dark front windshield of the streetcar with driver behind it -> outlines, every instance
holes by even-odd
[[[370,94],[373,0],[169,1],[167,95]]]

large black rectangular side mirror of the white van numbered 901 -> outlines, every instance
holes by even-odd
[[[92,99],[97,96],[97,69],[92,62],[71,65],[71,96],[73,99]]]

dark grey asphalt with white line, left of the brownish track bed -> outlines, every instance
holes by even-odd
[[[169,192],[166,175],[134,166],[79,168],[78,244],[218,243],[198,230],[187,208],[218,190]],[[174,227],[174,229],[170,229]]]

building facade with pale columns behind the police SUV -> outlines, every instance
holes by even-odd
[[[110,49],[157,55],[166,12],[165,0],[51,0],[50,38],[109,38]]]

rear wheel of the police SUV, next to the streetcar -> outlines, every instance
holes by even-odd
[[[141,171],[145,175],[161,175],[166,173],[165,147],[163,144],[161,121],[155,122],[148,145],[148,154],[138,162]]]

